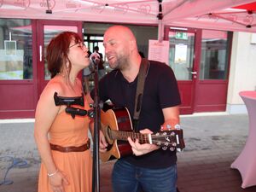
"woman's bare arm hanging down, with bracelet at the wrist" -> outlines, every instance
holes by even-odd
[[[49,181],[52,185],[52,189],[59,189],[60,191],[64,191],[62,187],[62,180],[64,183],[68,182],[67,179],[58,170],[58,167],[55,166],[48,140],[50,126],[52,125],[56,115],[60,110],[60,107],[55,106],[55,91],[60,93],[60,88],[58,88],[55,84],[47,85],[39,98],[35,115],[34,137],[41,159],[49,174]]]

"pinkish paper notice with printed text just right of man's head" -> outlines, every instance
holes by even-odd
[[[149,39],[148,60],[165,62],[169,65],[169,41]]]

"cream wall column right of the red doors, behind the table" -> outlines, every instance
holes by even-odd
[[[253,33],[234,32],[230,79],[228,87],[228,113],[247,113],[239,92],[241,90],[256,90],[256,44],[252,44]]]

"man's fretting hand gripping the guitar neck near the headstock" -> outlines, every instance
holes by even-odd
[[[148,129],[144,129],[142,131],[140,131],[140,133],[142,134],[151,134],[152,131],[148,130]],[[136,139],[135,142],[133,142],[131,140],[131,137],[128,137],[128,142],[131,145],[131,149],[133,154],[135,154],[136,156],[140,156],[143,154],[148,154],[151,151],[154,151],[160,147],[154,145],[154,144],[148,144],[148,143],[144,143],[144,144],[140,144],[138,139]]]

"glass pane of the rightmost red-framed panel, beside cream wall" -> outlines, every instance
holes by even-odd
[[[229,32],[202,31],[200,79],[227,79]]]

